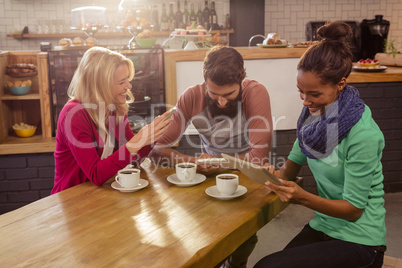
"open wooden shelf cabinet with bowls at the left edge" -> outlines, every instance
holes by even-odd
[[[37,74],[30,77],[16,78],[6,75],[6,67],[9,64],[31,63],[36,65]],[[5,86],[7,81],[15,80],[32,81],[28,94],[12,95]],[[42,152],[47,150],[45,146],[31,146],[51,137],[49,81],[47,53],[39,51],[1,52],[0,53],[0,152],[4,154],[9,147],[14,151]],[[24,122],[37,127],[35,135],[29,138],[17,137],[12,126],[15,123]],[[52,142],[50,146],[52,147]],[[48,144],[49,145],[49,144]],[[16,147],[15,147],[16,146]],[[20,148],[20,149],[19,149]]]

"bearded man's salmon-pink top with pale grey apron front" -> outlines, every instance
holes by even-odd
[[[272,137],[271,105],[267,89],[254,80],[242,83],[242,112],[227,120],[214,120],[205,100],[205,84],[188,88],[177,102],[177,112],[159,144],[171,145],[190,122],[200,134],[202,150],[211,155],[246,154],[248,161],[269,160]]]

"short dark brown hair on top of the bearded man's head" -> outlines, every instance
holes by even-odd
[[[218,86],[240,84],[246,77],[243,57],[232,47],[214,46],[204,58],[203,75]]]

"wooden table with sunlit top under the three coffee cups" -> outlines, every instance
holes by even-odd
[[[86,182],[0,215],[0,266],[214,267],[286,207],[230,172],[248,191],[229,201],[205,193],[214,176],[180,188],[151,165],[134,193]]]

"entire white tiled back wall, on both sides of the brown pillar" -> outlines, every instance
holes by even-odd
[[[251,1],[251,0],[244,0]],[[0,50],[38,50],[44,40],[15,40],[6,35],[28,26],[30,32],[35,25],[45,20],[63,20],[68,28],[70,11],[87,5],[104,6],[108,9],[110,22],[117,20],[119,0],[0,0]],[[159,7],[162,3],[176,3],[177,0],[150,0]],[[202,0],[188,0],[201,3]],[[210,0],[211,2],[211,0]],[[229,13],[230,0],[216,1],[219,23]],[[181,0],[183,5],[183,0]],[[395,39],[398,48],[402,46],[402,0],[265,0],[265,34],[276,32],[289,42],[305,41],[306,23],[309,21],[373,19],[384,15],[391,22],[389,39]],[[49,41],[57,41],[52,39]],[[121,44],[128,40],[101,40],[104,44]],[[401,49],[402,50],[402,49]]]

